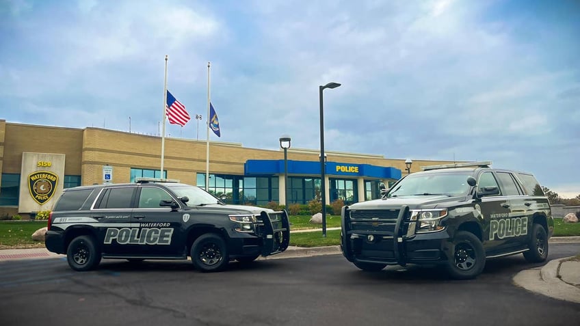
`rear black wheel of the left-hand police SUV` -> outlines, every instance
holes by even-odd
[[[89,271],[101,262],[101,252],[96,248],[92,236],[77,236],[66,249],[66,260],[75,271]]]

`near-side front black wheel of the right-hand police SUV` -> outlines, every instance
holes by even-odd
[[[458,231],[453,238],[447,272],[456,280],[469,280],[481,274],[486,266],[482,241],[473,233]]]

